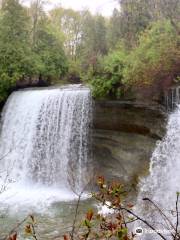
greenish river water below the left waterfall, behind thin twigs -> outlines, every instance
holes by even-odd
[[[33,215],[36,220],[36,233],[38,240],[60,239],[60,236],[71,231],[73,224],[77,201],[55,202],[51,206],[40,209],[25,206],[16,208],[2,208],[0,214],[0,238],[6,236],[19,222],[28,215]],[[81,222],[88,209],[97,209],[97,205],[91,199],[82,200],[79,205],[77,224]],[[24,238],[23,232],[25,223],[19,229],[18,239]]]

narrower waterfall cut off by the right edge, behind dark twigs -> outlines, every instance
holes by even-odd
[[[166,238],[172,239],[172,227],[163,220],[162,214],[151,203],[143,201],[149,198],[156,203],[176,224],[176,193],[180,191],[180,105],[169,115],[167,133],[164,139],[157,143],[151,158],[150,174],[141,180],[140,193],[137,200],[136,212],[148,220],[152,226]],[[180,205],[179,205],[180,207]],[[149,228],[142,222],[135,227],[142,227],[144,234],[138,239],[160,239],[155,233],[149,233]]]

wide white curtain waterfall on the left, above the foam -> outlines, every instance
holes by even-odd
[[[90,90],[76,85],[12,93],[2,113],[2,181],[81,191],[91,158],[91,107]]]

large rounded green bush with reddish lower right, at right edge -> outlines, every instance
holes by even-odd
[[[124,70],[125,84],[167,84],[179,74],[179,35],[169,21],[159,21],[148,28],[132,50]],[[166,82],[167,81],[167,82]]]

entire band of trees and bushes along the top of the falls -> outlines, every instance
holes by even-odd
[[[32,0],[0,9],[0,100],[16,85],[70,81],[96,97],[161,94],[180,75],[180,2],[119,1],[110,18]]]

